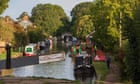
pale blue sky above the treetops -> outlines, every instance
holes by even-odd
[[[1,14],[1,16],[10,16],[16,20],[23,12],[27,12],[31,15],[32,8],[37,4],[56,4],[61,6],[67,16],[70,16],[70,11],[77,4],[81,2],[89,2],[93,0],[10,0],[8,8]]]

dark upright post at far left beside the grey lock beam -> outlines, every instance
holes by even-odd
[[[11,69],[11,46],[6,44],[6,69]]]

